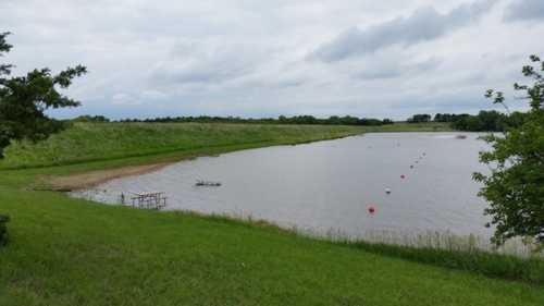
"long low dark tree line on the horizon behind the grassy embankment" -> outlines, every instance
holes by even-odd
[[[96,118],[84,117],[88,121],[99,122]],[[107,119],[106,119],[107,120]],[[79,120],[82,121],[82,120]],[[104,121],[101,121],[104,122]],[[357,118],[357,117],[338,117],[316,118],[313,115],[295,115],[279,118],[239,118],[239,117],[162,117],[153,119],[123,119],[120,122],[156,122],[156,123],[182,123],[182,122],[198,122],[198,123],[257,123],[257,124],[325,124],[325,125],[384,125],[393,124],[391,119],[373,119],[373,118]]]

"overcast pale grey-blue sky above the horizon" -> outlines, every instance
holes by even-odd
[[[15,74],[84,64],[52,112],[353,114],[490,108],[544,56],[543,0],[0,0]],[[510,101],[512,108],[521,107]]]

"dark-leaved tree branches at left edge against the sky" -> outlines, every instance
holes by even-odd
[[[0,57],[12,48],[5,40],[10,33],[0,33]],[[9,77],[11,64],[0,64],[0,158],[11,139],[47,138],[63,127],[62,122],[48,118],[45,111],[53,108],[77,107],[79,102],[61,93],[75,77],[87,73],[82,65],[53,75],[49,69],[34,70],[26,76]]]

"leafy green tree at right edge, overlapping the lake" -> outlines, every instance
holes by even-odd
[[[523,66],[523,75],[531,85],[515,84],[517,91],[529,100],[529,113],[518,127],[500,135],[491,134],[485,140],[490,151],[480,154],[480,160],[492,169],[490,174],[474,173],[474,180],[484,186],[480,191],[490,203],[485,215],[495,225],[492,242],[499,246],[516,236],[529,237],[544,247],[544,63],[531,56],[531,64]],[[505,105],[504,94],[487,90],[494,103]],[[491,225],[487,224],[487,225]]]

